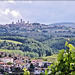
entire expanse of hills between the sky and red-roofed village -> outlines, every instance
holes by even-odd
[[[75,23],[68,22],[51,25],[40,23],[0,25],[0,48],[34,52],[37,56],[58,53],[60,49],[65,48],[66,38],[75,37],[75,28],[71,27],[74,25]],[[74,39],[71,43],[73,41]]]

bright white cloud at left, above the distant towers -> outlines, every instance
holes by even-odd
[[[20,18],[22,18],[22,16],[17,10],[10,10],[9,8],[0,9],[0,23],[12,22]]]

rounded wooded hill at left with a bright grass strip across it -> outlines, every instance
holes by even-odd
[[[36,56],[39,57],[48,56],[51,55],[52,52],[50,47],[45,46],[41,42],[19,36],[1,36],[0,49],[7,49],[14,51],[21,50],[25,52],[25,55],[31,57],[34,57],[35,54]]]

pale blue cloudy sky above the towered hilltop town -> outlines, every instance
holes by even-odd
[[[75,1],[0,1],[0,24],[75,22]]]

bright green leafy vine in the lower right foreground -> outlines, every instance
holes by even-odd
[[[49,71],[46,70],[48,75],[74,75],[75,74],[75,47],[68,42],[65,43],[66,50],[60,50],[57,63],[52,64]]]

